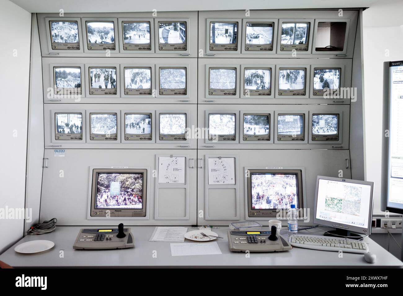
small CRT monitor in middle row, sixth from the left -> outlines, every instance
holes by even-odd
[[[270,96],[272,68],[244,68],[243,70],[243,95],[245,96]]]

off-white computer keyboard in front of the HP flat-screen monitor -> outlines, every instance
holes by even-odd
[[[292,234],[289,237],[291,246],[323,251],[343,251],[364,254],[368,252],[366,243],[360,240],[337,238],[333,236]]]

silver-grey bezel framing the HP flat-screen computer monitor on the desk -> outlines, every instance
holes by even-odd
[[[346,182],[346,183],[353,183],[353,184],[361,184],[361,185],[369,185],[371,186],[371,194],[370,194],[370,209],[368,211],[368,227],[367,228],[362,228],[358,226],[351,226],[343,223],[337,223],[335,224],[334,222],[331,221],[326,221],[326,220],[320,220],[316,218],[316,211],[317,211],[317,206],[318,206],[318,187],[319,187],[319,180],[324,179],[328,181],[341,181],[341,182]],[[360,181],[360,180],[353,180],[353,179],[345,179],[345,178],[335,178],[335,177],[325,177],[325,176],[317,176],[316,177],[316,188],[315,188],[315,202],[314,202],[314,224],[318,225],[323,225],[323,226],[328,226],[336,229],[341,229],[341,230],[349,230],[355,233],[360,233],[360,234],[371,234],[371,222],[372,222],[372,210],[374,207],[374,199],[373,199],[373,193],[374,193],[374,183],[373,182],[368,182],[368,181]]]

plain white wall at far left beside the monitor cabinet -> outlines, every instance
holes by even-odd
[[[0,211],[24,208],[31,13],[0,0]],[[23,220],[3,219],[0,253],[23,236]]]

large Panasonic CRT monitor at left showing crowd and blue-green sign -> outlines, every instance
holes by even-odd
[[[147,169],[93,169],[90,216],[145,217]]]

